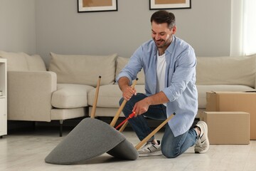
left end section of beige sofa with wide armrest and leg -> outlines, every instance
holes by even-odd
[[[46,71],[40,56],[0,51],[7,59],[8,120],[63,120],[87,115],[87,93],[93,86],[58,84],[57,75]]]

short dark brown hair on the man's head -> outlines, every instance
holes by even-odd
[[[151,16],[150,21],[151,21],[151,24],[153,21],[156,22],[156,24],[166,23],[169,28],[173,28],[175,26],[174,14],[164,10],[154,12],[154,14],[152,14]]]

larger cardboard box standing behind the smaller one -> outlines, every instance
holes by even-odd
[[[207,111],[250,113],[250,140],[256,140],[256,92],[207,92]]]

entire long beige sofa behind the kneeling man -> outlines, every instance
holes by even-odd
[[[96,116],[113,117],[122,93],[115,81],[129,58],[50,53],[48,71],[40,56],[0,51],[7,58],[8,119],[46,121],[90,115],[98,76],[102,76]],[[198,111],[206,108],[207,91],[255,90],[256,56],[197,57]],[[137,92],[144,93],[144,73]],[[89,108],[89,111],[87,109]],[[123,116],[123,114],[121,114]]]

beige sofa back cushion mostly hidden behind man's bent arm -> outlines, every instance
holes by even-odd
[[[117,57],[117,69],[116,69],[116,78],[118,76],[118,74],[120,73],[120,71],[122,71],[122,68],[124,68],[124,66],[126,66],[126,64],[128,63],[129,58],[124,58],[124,57]],[[144,76],[144,71],[142,69],[142,71],[140,71],[137,75],[137,78],[139,78],[139,80],[137,81],[137,84],[145,84],[145,76]]]

